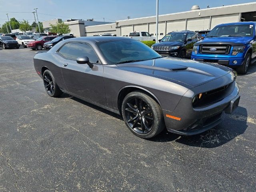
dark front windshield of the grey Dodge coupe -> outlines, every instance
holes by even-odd
[[[98,42],[98,48],[108,64],[120,62],[131,62],[139,60],[150,60],[161,56],[140,41],[114,40]]]

